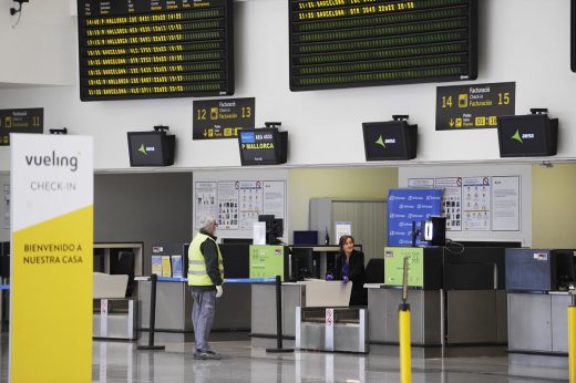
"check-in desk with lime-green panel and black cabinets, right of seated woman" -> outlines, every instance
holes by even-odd
[[[411,265],[411,342],[422,348],[418,352],[423,358],[440,352],[449,355],[455,348],[448,346],[464,345],[482,345],[472,352],[493,354],[497,350],[492,346],[506,343],[503,248],[466,248],[460,252],[445,248],[387,248],[384,257],[384,283],[366,284],[371,350],[381,352],[399,343],[404,257]]]

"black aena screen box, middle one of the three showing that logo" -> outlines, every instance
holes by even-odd
[[[363,123],[366,161],[416,157],[418,125],[405,121]]]

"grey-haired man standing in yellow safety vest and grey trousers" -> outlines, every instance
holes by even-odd
[[[210,335],[216,298],[223,294],[224,265],[222,253],[216,244],[214,231],[218,227],[213,216],[202,217],[200,230],[188,248],[188,286],[192,290],[194,306],[192,323],[194,325],[194,359],[220,359],[220,354],[210,350]]]

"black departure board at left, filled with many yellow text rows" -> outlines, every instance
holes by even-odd
[[[233,0],[78,0],[82,101],[234,94]]]

